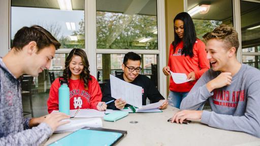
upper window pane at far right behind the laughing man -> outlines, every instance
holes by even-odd
[[[260,2],[240,1],[242,61],[260,69]]]

